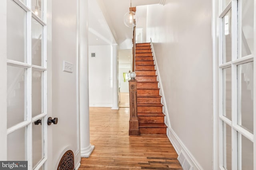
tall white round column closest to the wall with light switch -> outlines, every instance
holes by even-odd
[[[81,157],[89,157],[94,149],[90,144],[89,70],[88,70],[88,0],[80,0],[79,9],[79,60],[80,60],[80,148]]]

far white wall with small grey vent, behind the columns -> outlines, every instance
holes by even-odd
[[[111,45],[89,45],[89,102],[90,107],[112,107]]]

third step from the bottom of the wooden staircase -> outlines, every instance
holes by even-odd
[[[162,113],[163,105],[162,104],[137,104],[138,112],[147,112],[147,113]]]

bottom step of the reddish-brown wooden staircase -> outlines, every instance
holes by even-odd
[[[140,134],[162,135],[166,134],[166,125],[164,123],[139,123]]]

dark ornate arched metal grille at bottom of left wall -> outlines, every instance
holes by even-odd
[[[68,150],[62,156],[57,170],[74,170],[74,153]]]

